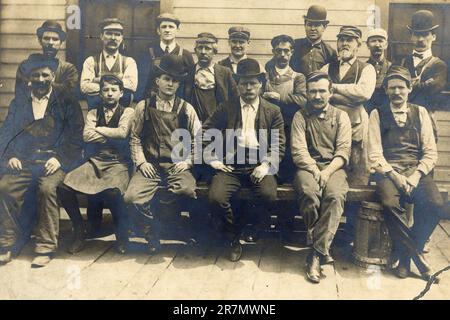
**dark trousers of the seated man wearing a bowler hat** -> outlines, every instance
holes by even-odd
[[[259,204],[259,221],[267,217],[267,211],[271,210],[277,200],[277,181],[275,176],[265,176],[260,183],[254,184],[250,175],[254,168],[236,169],[232,173],[217,172],[212,179],[209,189],[209,204],[213,221],[225,235],[228,241],[238,240],[242,227],[249,217],[238,217],[231,205],[232,197],[242,186],[249,186],[255,193]],[[245,214],[244,214],[245,215]]]

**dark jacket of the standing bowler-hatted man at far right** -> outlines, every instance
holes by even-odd
[[[437,57],[430,57],[414,68],[413,56],[410,54],[402,59],[400,65],[409,70],[412,78],[420,75],[419,83],[409,95],[409,101],[428,110],[434,110],[439,105],[440,92],[447,85],[447,64]],[[426,83],[430,79],[431,81]]]

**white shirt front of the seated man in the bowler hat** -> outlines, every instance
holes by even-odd
[[[241,147],[257,149],[259,148],[258,138],[256,136],[255,121],[259,108],[259,98],[252,104],[247,104],[240,98],[242,115],[242,132],[238,137],[238,143]]]

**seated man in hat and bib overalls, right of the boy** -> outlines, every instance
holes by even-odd
[[[196,198],[196,181],[191,172],[192,155],[174,158],[178,141],[174,141],[172,135],[176,130],[187,130],[189,142],[193,142],[201,130],[194,108],[176,96],[180,81],[187,75],[182,58],[165,55],[156,65],[156,71],[158,94],[136,106],[130,146],[131,157],[138,170],[125,193],[125,202],[137,209],[137,227],[143,231],[150,253],[160,248],[160,215],[163,212],[156,212],[153,205],[161,185],[167,186],[167,191],[175,196]]]

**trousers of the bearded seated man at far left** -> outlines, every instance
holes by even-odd
[[[56,171],[45,176],[43,165],[25,166],[18,173],[7,173],[0,179],[0,248],[11,250],[22,237],[28,237],[27,221],[22,212],[24,200],[30,191],[36,193],[37,226],[35,252],[47,254],[58,247],[59,205],[56,188],[65,173]]]

